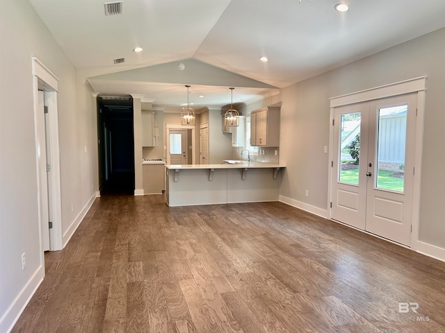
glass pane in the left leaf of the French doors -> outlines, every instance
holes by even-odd
[[[340,117],[340,165],[339,181],[359,183],[360,123],[362,113],[341,114]]]

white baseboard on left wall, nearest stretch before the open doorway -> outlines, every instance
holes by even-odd
[[[10,332],[13,330],[15,323],[19,319],[26,305],[28,305],[31,297],[38,289],[44,278],[44,268],[41,265],[37,268],[31,279],[26,283],[25,287],[15,298],[13,304],[6,310],[3,317],[0,318],[0,332]]]

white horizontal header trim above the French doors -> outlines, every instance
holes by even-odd
[[[330,108],[426,90],[426,76],[330,98]]]

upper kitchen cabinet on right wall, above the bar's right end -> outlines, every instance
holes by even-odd
[[[250,146],[280,146],[280,108],[262,108],[250,114]]]

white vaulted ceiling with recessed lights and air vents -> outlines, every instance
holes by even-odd
[[[123,0],[111,16],[110,0],[29,1],[97,92],[143,94],[163,107],[186,102],[184,84],[198,106],[229,103],[229,86],[234,103],[250,101],[445,26],[444,0],[348,0],[346,13],[334,10],[341,0]],[[232,73],[218,83],[207,69]]]

